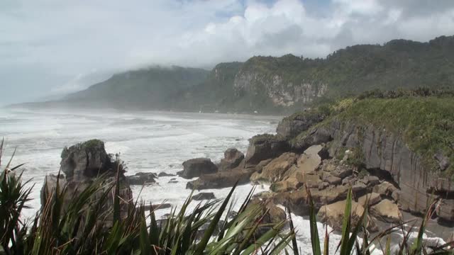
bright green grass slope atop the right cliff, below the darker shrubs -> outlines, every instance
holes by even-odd
[[[421,155],[431,168],[436,167],[433,155],[438,151],[454,162],[454,97],[366,98],[333,118],[372,124],[402,135],[409,149]],[[451,163],[445,174],[453,172]]]

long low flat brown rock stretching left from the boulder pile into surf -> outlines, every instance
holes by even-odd
[[[238,181],[238,184],[249,183],[254,169],[245,169],[240,166],[231,171],[218,171],[215,174],[205,174],[195,181],[189,181],[186,188],[202,190],[206,188],[228,188]]]

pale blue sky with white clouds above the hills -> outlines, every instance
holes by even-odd
[[[453,0],[2,0],[0,105],[114,72],[454,35]]]

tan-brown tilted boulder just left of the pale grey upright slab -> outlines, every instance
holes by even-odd
[[[281,181],[285,172],[297,162],[297,158],[297,154],[286,152],[276,159],[272,159],[270,163],[263,167],[262,173],[251,181]]]

